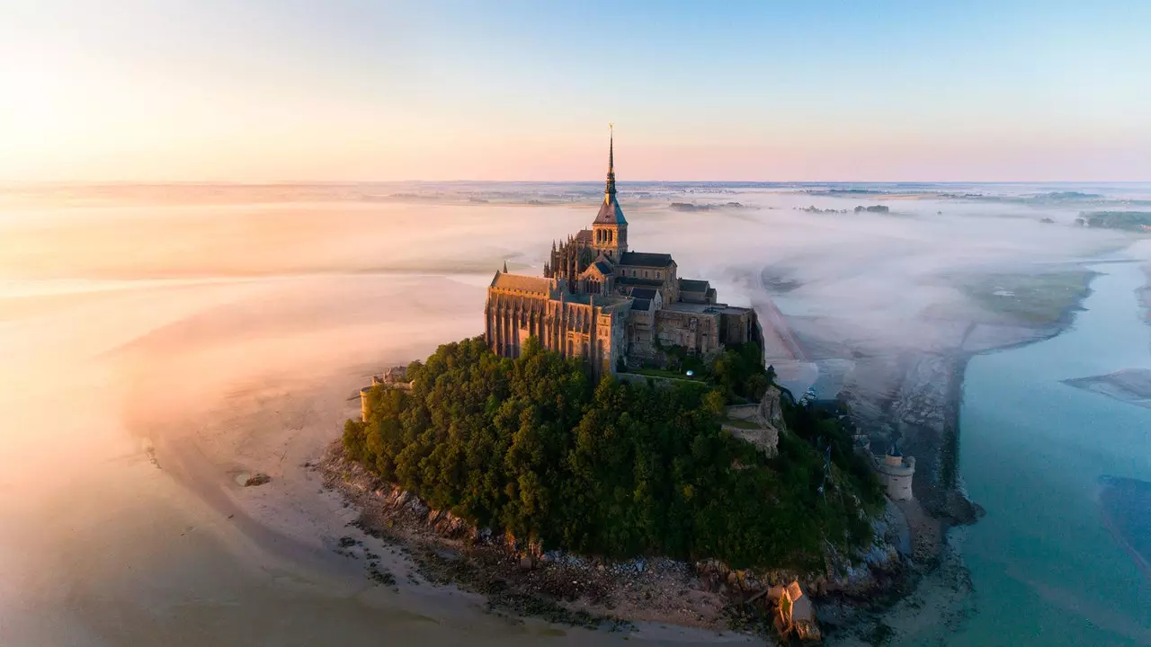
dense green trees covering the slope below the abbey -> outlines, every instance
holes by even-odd
[[[721,429],[730,387],[593,383],[535,340],[516,359],[480,337],[445,344],[407,375],[410,391],[373,387],[344,448],[479,527],[546,549],[734,568],[820,566],[828,545],[872,539],[861,507],[877,513],[882,488],[839,423],[809,408],[785,406],[790,431],[767,458]]]

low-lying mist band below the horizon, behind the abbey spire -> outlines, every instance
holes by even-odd
[[[77,188],[58,204],[43,191],[10,200],[0,220],[0,280],[9,291],[14,280],[37,280],[35,292],[84,290],[90,281],[110,288],[108,281],[144,279],[401,272],[471,275],[480,291],[504,260],[513,272],[540,273],[550,242],[587,227],[595,212],[589,184],[284,185],[246,193],[180,185],[167,201],[162,189],[120,188],[121,204],[108,188],[90,189],[87,200]],[[1098,187],[945,189],[653,184],[631,188],[637,198],[620,196],[632,248],[672,253],[680,276],[711,280],[722,299],[747,304],[767,268],[769,288],[790,288],[782,299],[788,314],[844,319],[857,328],[845,335],[898,343],[920,335],[924,313],[971,310],[980,318],[982,305],[956,289],[961,275],[1050,272],[1133,239],[1075,227],[1077,211],[1065,199],[1029,198],[1108,199]],[[1146,197],[1120,189],[1128,201]],[[876,205],[889,213],[855,211]]]

